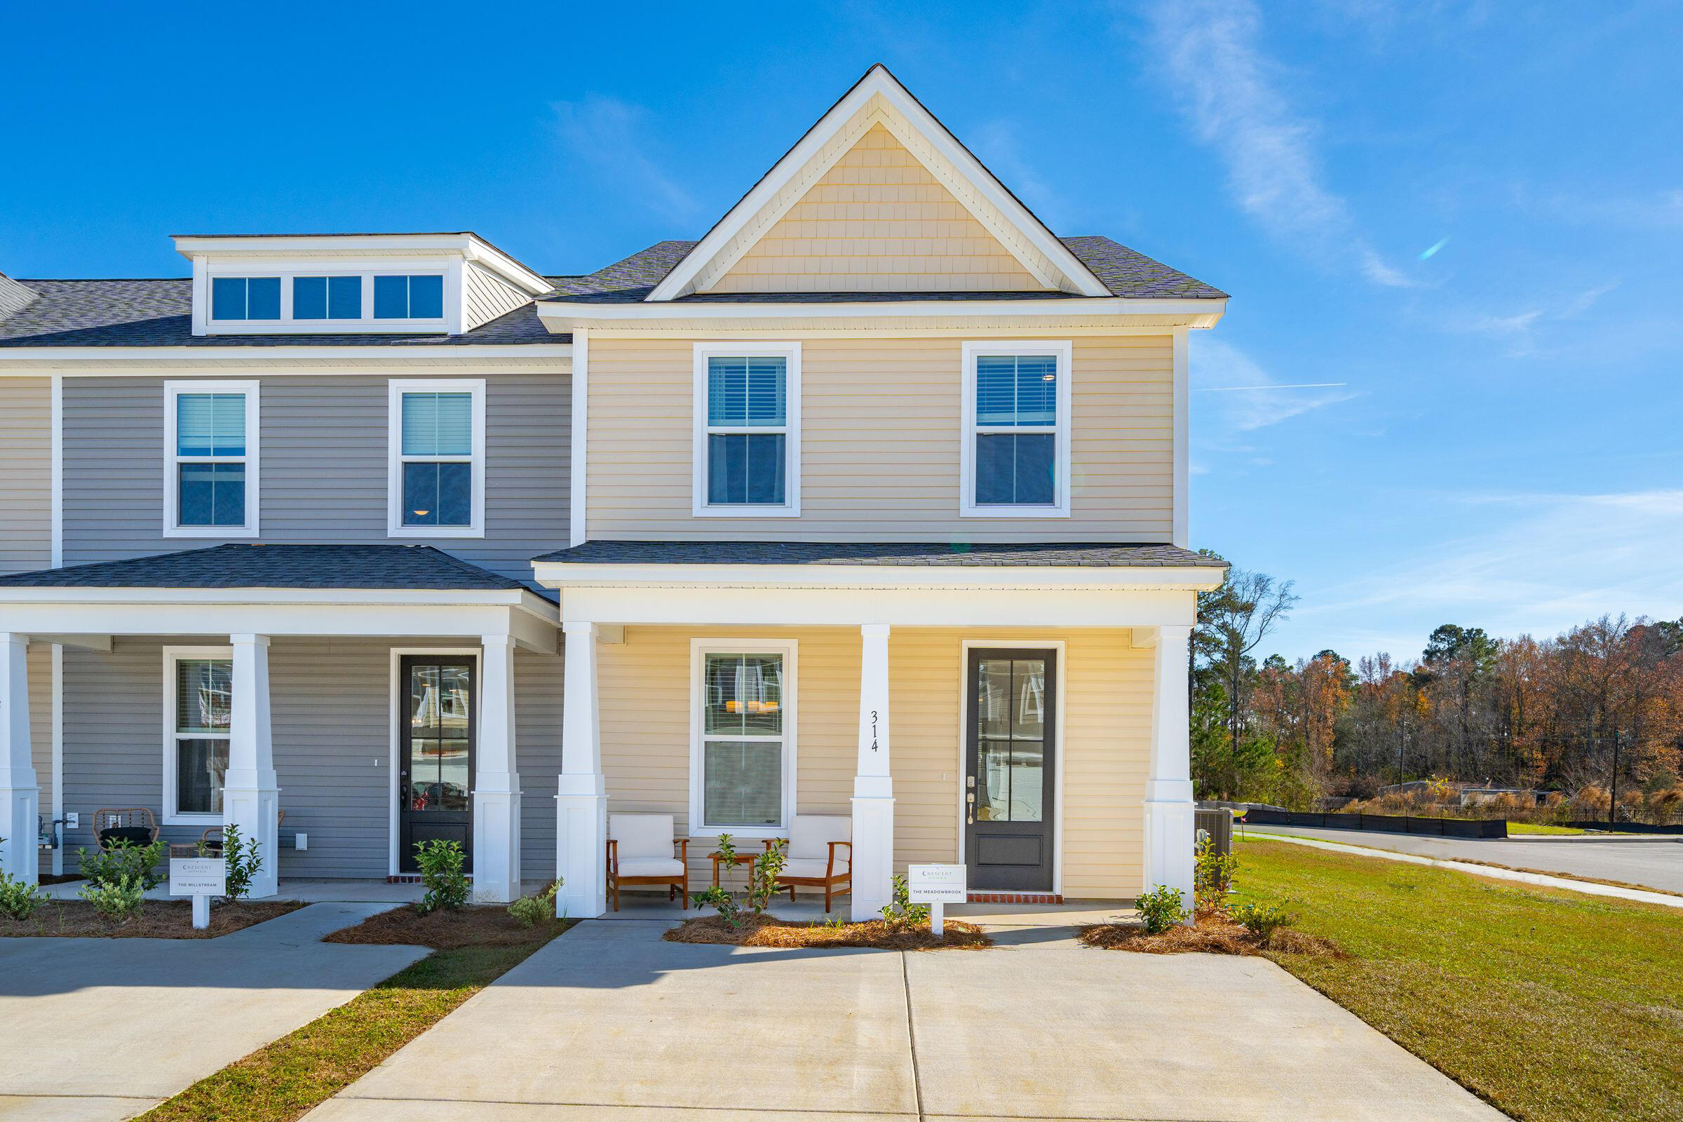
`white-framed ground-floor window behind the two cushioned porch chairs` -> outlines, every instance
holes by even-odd
[[[769,838],[794,806],[794,643],[693,639],[690,833]]]

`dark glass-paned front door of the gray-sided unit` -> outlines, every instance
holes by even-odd
[[[473,742],[478,708],[473,659],[404,654],[397,715],[402,823],[397,868],[416,871],[416,843],[459,841],[473,871]]]

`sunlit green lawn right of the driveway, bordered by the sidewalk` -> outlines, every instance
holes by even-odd
[[[1526,1122],[1683,1119],[1683,912],[1249,839],[1242,898],[1350,959],[1271,955]]]

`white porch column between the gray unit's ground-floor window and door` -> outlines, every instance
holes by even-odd
[[[227,772],[222,777],[222,823],[257,841],[263,868],[251,881],[254,900],[279,892],[279,799],[269,732],[269,636],[236,634],[234,698],[229,715]]]

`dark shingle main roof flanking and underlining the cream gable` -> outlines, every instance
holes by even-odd
[[[1153,261],[1109,237],[1064,237],[1112,296],[1133,299],[1224,299],[1227,293]],[[656,242],[587,276],[555,278],[547,301],[628,304],[646,298],[698,242]],[[865,303],[895,299],[1067,299],[1070,293],[693,293],[673,303]]]

